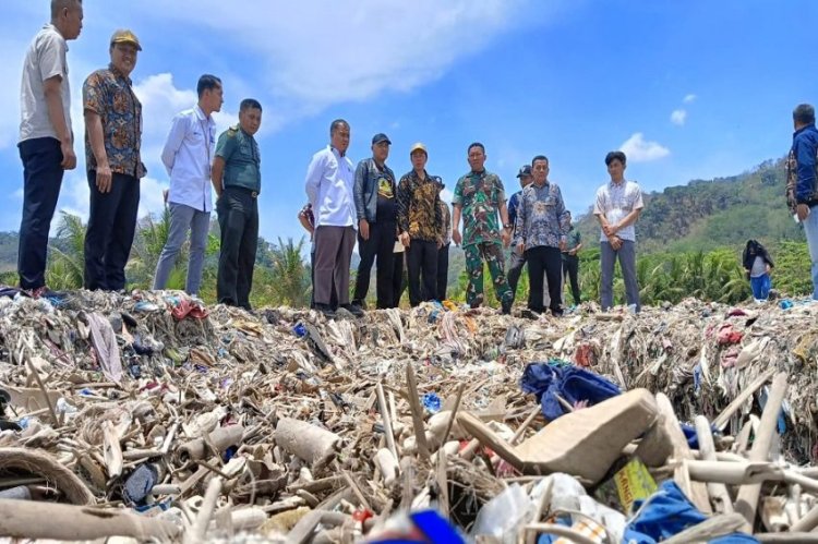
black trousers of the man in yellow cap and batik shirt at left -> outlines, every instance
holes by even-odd
[[[140,210],[140,180],[113,173],[111,190],[100,193],[97,172],[88,170],[91,210],[85,232],[85,289],[120,291]]]

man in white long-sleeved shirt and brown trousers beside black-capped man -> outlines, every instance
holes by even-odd
[[[338,305],[356,316],[363,311],[349,303],[349,265],[356,244],[354,167],[347,157],[349,123],[329,125],[329,145],[313,155],[306,169],[306,196],[315,214],[315,307],[335,317],[333,285]]]

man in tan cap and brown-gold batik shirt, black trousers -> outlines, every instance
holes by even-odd
[[[417,306],[437,297],[437,250],[443,245],[442,181],[426,172],[429,153],[423,144],[414,144],[409,158],[412,170],[398,183],[398,229],[407,249],[409,302]]]

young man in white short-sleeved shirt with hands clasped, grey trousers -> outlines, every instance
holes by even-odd
[[[625,179],[627,159],[622,152],[611,152],[605,156],[605,165],[611,181],[597,190],[593,215],[597,216],[602,232],[600,234],[600,298],[602,310],[613,306],[613,275],[616,259],[619,261],[622,277],[625,280],[625,298],[637,312],[639,286],[636,281],[636,229],[634,223],[645,207],[639,185]]]

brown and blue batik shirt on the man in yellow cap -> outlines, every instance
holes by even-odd
[[[92,73],[83,85],[83,108],[99,116],[103,122],[105,153],[111,172],[143,178],[142,102],[133,93],[133,82],[109,64]],[[85,130],[85,166],[96,170],[97,159]]]

